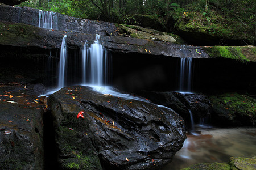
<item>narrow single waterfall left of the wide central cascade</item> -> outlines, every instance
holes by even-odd
[[[64,35],[61,49],[60,49],[60,62],[59,62],[59,82],[58,88],[63,88],[65,86],[65,72],[66,72],[66,61],[67,61],[67,35]]]

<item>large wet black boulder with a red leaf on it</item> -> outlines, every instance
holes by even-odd
[[[49,103],[62,168],[156,169],[183,146],[183,119],[168,108],[82,86],[57,91]]]

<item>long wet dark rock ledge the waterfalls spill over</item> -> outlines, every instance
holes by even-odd
[[[60,49],[61,40],[64,35],[67,35],[68,48],[81,49],[86,40],[89,44],[93,43],[97,33],[101,36],[102,45],[112,52],[172,57],[184,57],[184,54],[194,58],[209,57],[198,46],[126,37],[123,35],[123,30],[114,23],[56,14],[58,16],[58,30],[42,29],[38,28],[39,10],[7,5],[0,5],[0,10],[3,13],[0,16],[0,30],[2,32],[0,45]],[[171,35],[166,35],[166,37],[174,39]]]

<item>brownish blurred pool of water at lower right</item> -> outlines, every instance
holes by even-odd
[[[232,156],[256,156],[256,128],[200,128],[187,133],[183,148],[161,170],[176,170],[192,164],[228,162]]]

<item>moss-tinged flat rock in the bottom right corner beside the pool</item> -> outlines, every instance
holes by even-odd
[[[246,169],[253,170],[256,169],[256,157],[253,158],[243,158],[243,157],[232,157],[227,163],[200,163],[191,165],[187,168],[181,170],[196,170],[196,169],[205,169],[205,170],[236,170],[236,169]]]

